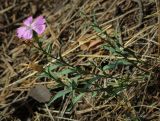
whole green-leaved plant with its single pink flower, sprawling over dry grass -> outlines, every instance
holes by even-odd
[[[45,66],[42,72],[38,75],[39,79],[52,79],[57,82],[57,87],[63,88],[63,90],[52,96],[48,105],[51,105],[58,98],[70,96],[72,98],[70,107],[68,107],[69,110],[72,109],[72,107],[85,95],[86,92],[91,93],[93,96],[98,93],[105,92],[103,93],[104,98],[108,98],[120,94],[131,84],[129,81],[129,73],[125,72],[124,75],[119,76],[115,75],[114,72],[116,72],[118,68],[124,68],[123,70],[125,70],[130,66],[139,68],[137,64],[142,62],[134,52],[127,48],[123,48],[123,46],[118,42],[118,38],[115,37],[113,39],[113,37],[110,37],[105,33],[98,26],[97,22],[93,22],[91,27],[95,32],[97,32],[97,36],[106,42],[102,45],[102,49],[104,51],[108,51],[114,56],[121,56],[121,58],[110,61],[103,66],[97,65],[94,61],[88,61],[88,64],[86,65],[88,67],[95,68],[94,70],[98,70],[95,72],[89,72],[81,66],[70,64],[65,61],[61,52],[59,52],[58,57],[54,57],[52,54],[51,44],[46,46],[46,48],[43,46],[43,41],[39,38],[39,35],[44,33],[46,29],[46,20],[43,16],[38,16],[35,19],[30,16],[24,20],[23,25],[17,29],[18,38],[23,40],[35,39],[33,42],[36,42],[38,46],[33,47],[36,47],[36,49],[42,51],[46,56],[56,60],[54,63],[48,62],[50,64]],[[130,60],[128,57],[134,57],[135,60]],[[106,87],[100,85],[100,81],[104,80],[107,80]]]

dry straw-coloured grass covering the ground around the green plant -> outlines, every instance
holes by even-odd
[[[135,1],[5,0],[0,4],[0,119],[18,121],[22,116],[23,120],[32,121],[159,121],[160,4],[159,0],[142,0],[142,14]],[[148,65],[139,66],[149,72],[148,78],[139,76],[141,70],[134,70],[133,84],[118,96],[104,100],[105,92],[96,97],[86,93],[70,112],[66,111],[70,97],[50,107],[28,98],[27,92],[36,84],[52,88],[53,95],[61,88],[57,89],[53,80],[42,82],[36,78],[41,66],[50,63],[46,63],[42,53],[31,48],[30,43],[21,42],[15,29],[27,16],[42,14],[48,26],[44,36],[46,43],[53,43],[53,55],[63,46],[63,57],[74,65],[85,65],[86,60],[101,64],[115,57],[101,51],[100,45],[104,42],[89,27],[94,11],[104,31],[111,36],[118,31],[121,44],[141,55],[141,60]],[[81,12],[86,18],[80,16]],[[123,76],[122,70],[115,75]],[[101,80],[99,84],[105,87],[106,81]]]

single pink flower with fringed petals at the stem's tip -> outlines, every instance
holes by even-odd
[[[43,16],[38,16],[34,20],[30,16],[23,21],[23,26],[17,29],[17,36],[22,39],[32,39],[33,31],[40,35],[44,32],[45,28],[46,25]]]

